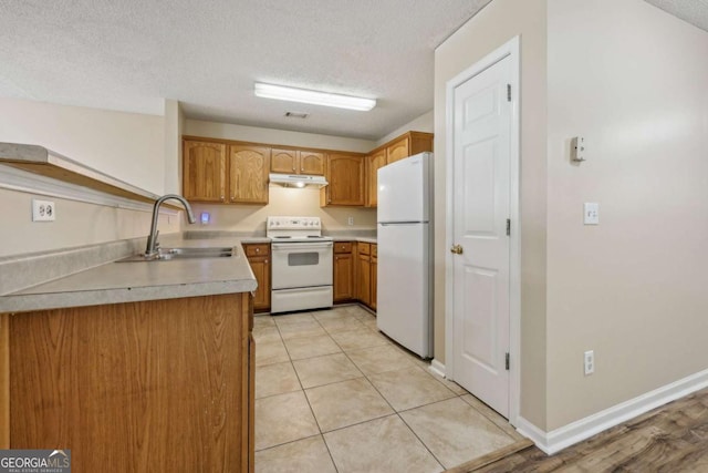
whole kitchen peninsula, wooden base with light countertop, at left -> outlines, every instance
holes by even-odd
[[[0,297],[2,448],[71,450],[76,471],[253,471],[257,284],[228,244]]]

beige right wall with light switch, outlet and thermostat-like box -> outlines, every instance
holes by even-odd
[[[548,12],[553,430],[708,368],[708,33],[641,0]],[[584,202],[598,226],[582,225]]]

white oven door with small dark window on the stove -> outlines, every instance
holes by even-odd
[[[271,245],[272,288],[332,286],[332,241]]]

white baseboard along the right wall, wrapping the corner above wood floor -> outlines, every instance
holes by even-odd
[[[531,439],[539,449],[552,455],[622,422],[706,387],[708,387],[708,370],[699,371],[670,384],[663,385],[551,432],[543,432],[521,415],[518,417],[516,426],[522,435]]]

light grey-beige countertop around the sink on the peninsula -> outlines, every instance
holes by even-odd
[[[268,238],[160,238],[168,247],[233,247],[230,258],[106,263],[0,297],[0,312],[95,306],[253,291],[256,278],[241,243]]]

